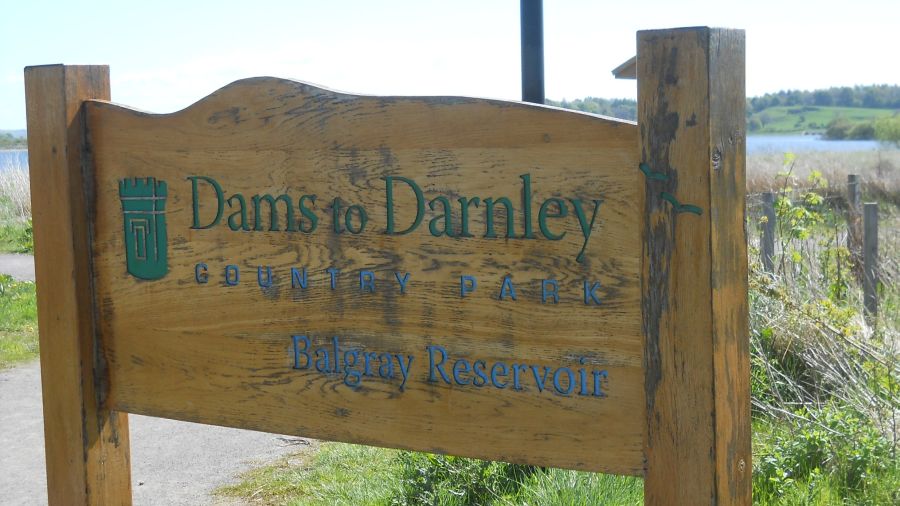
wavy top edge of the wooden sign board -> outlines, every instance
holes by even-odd
[[[269,89],[266,90],[265,88]],[[455,95],[366,95],[366,94],[354,94],[347,93],[342,91],[333,90],[331,88],[327,88],[325,86],[320,86],[317,84],[312,84],[305,81],[300,81],[296,79],[288,79],[283,77],[272,77],[272,76],[259,76],[259,77],[248,77],[244,79],[239,79],[237,81],[233,81],[231,83],[222,86],[216,91],[210,93],[209,95],[204,96],[203,98],[197,100],[196,102],[189,104],[188,106],[173,111],[169,113],[155,113],[151,111],[146,111],[143,109],[139,109],[134,106],[120,104],[111,100],[87,100],[86,102],[91,102],[95,104],[100,104],[103,106],[111,106],[119,109],[124,109],[128,112],[138,114],[140,116],[148,116],[148,117],[178,117],[190,114],[194,109],[200,108],[204,105],[210,105],[213,103],[221,102],[223,104],[237,102],[237,99],[241,96],[245,96],[246,93],[267,93],[271,96],[286,96],[293,94],[294,96],[301,97],[314,97],[314,96],[325,96],[331,97],[335,101],[339,102],[351,102],[355,100],[377,100],[382,103],[396,103],[396,102],[423,102],[432,106],[452,106],[452,105],[462,105],[462,104],[484,104],[493,107],[521,107],[521,108],[531,108],[531,109],[543,109],[547,111],[563,113],[563,114],[574,114],[578,116],[585,116],[588,118],[599,119],[602,121],[606,121],[614,124],[623,124],[623,125],[637,125],[636,121],[614,118],[612,116],[604,116],[600,114],[593,114],[584,111],[578,111],[574,109],[565,109],[562,107],[556,107],[552,105],[546,104],[535,104],[531,102],[519,102],[515,100],[503,100],[496,98],[480,98],[480,97],[469,97],[469,96],[455,96]]]

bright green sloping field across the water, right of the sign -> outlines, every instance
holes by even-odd
[[[753,134],[821,133],[837,118],[860,123],[890,117],[896,112],[891,109],[862,107],[780,106],[754,113],[750,120],[757,119],[762,124],[761,128],[752,132]]]

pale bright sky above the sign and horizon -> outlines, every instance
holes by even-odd
[[[544,0],[546,96],[635,98],[611,70],[637,30],[747,32],[747,94],[900,84],[897,0]],[[13,0],[0,5],[0,129],[23,69],[110,65],[112,100],[167,113],[268,75],[367,95],[521,97],[517,0]]]

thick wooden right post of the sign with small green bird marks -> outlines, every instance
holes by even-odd
[[[638,32],[646,504],[751,502],[744,32]]]

